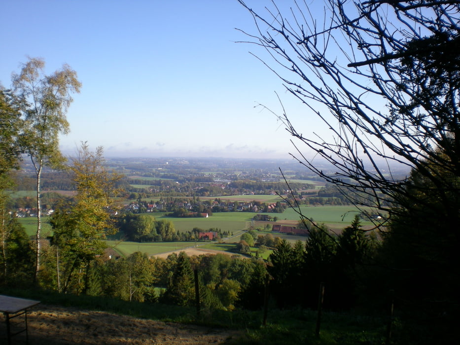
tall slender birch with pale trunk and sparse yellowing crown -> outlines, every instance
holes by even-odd
[[[58,168],[65,162],[59,149],[59,134],[69,132],[66,113],[80,92],[81,83],[76,72],[65,64],[50,75],[44,73],[41,58],[29,58],[19,74],[12,76],[15,94],[22,100],[21,112],[25,120],[22,145],[32,160],[36,175],[37,229],[35,234],[35,278],[40,270],[41,251],[41,173],[44,167]]]

